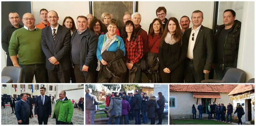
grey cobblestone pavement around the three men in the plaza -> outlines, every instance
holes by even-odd
[[[9,103],[8,103],[9,104]],[[54,104],[52,104],[52,113],[53,113],[53,109],[54,109]],[[33,106],[33,115],[34,115],[34,106]],[[1,121],[2,121],[2,125],[17,125],[18,121],[17,118],[15,116],[14,113],[12,113],[11,107],[10,106],[6,106],[5,108],[1,108]],[[72,117],[72,122],[75,125],[83,125],[84,124],[84,112],[78,110],[77,108],[74,108],[74,113],[73,113],[73,117]],[[35,117],[30,119],[29,118],[29,124],[30,125],[38,125],[38,119]],[[55,125],[56,124],[56,120],[52,119],[52,117],[50,117],[48,119],[48,125]]]

